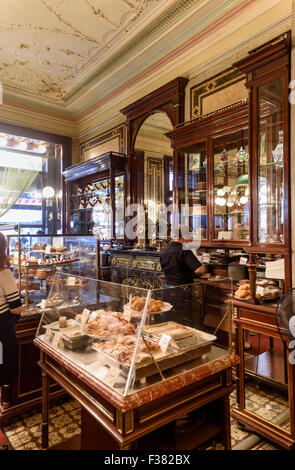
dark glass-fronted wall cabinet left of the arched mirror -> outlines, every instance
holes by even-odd
[[[125,157],[109,152],[64,171],[68,231],[124,239]]]

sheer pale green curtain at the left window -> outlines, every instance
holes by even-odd
[[[4,167],[0,173],[0,219],[11,209],[16,201],[29,189],[38,170]]]

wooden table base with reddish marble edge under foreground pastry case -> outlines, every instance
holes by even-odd
[[[81,439],[71,448],[192,450],[212,438],[231,448],[229,395],[234,389],[231,370],[238,362],[235,354],[122,396],[39,338],[35,344],[41,350],[43,378],[42,448],[48,447],[49,378],[82,407]],[[180,428],[179,419],[196,410],[204,413],[201,427],[196,425],[192,432],[182,422]]]

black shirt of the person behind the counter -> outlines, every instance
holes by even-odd
[[[171,242],[160,258],[166,284],[180,286],[194,281],[194,271],[202,264],[191,250],[183,250],[182,243]]]

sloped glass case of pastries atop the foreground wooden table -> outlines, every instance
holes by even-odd
[[[123,396],[229,354],[206,331],[193,284],[148,290],[61,272],[37,338]]]

